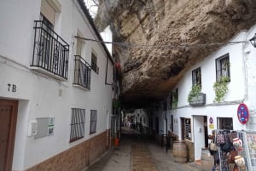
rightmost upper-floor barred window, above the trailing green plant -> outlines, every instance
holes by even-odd
[[[216,59],[216,81],[220,82],[222,77],[230,77],[230,54]]]

